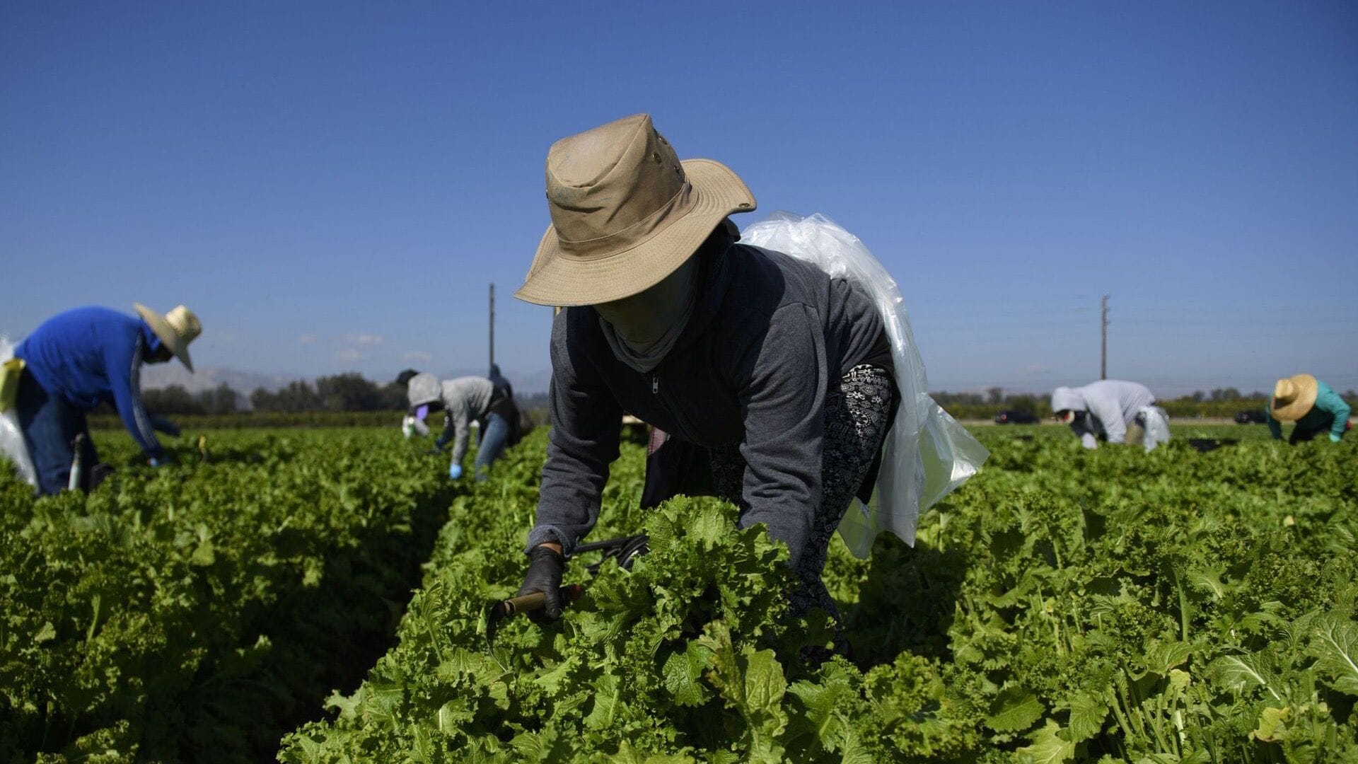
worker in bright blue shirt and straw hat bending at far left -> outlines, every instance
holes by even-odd
[[[182,305],[164,315],[140,303],[134,307],[140,318],[107,307],[68,310],[45,321],[15,348],[15,358],[24,363],[15,408],[39,493],[67,487],[76,435],[86,435],[84,462],[95,464],[86,413],[100,402],[118,409],[152,466],[166,462],[141,406],[141,364],[164,363],[172,356],[193,371],[189,343],[202,325]],[[81,488],[88,488],[88,470]]]

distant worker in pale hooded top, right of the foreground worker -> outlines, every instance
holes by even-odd
[[[1169,415],[1156,405],[1156,396],[1145,385],[1135,382],[1100,379],[1084,387],[1057,387],[1051,411],[1086,449],[1097,449],[1103,439],[1150,451],[1169,440]]]

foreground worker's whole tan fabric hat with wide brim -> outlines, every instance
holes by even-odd
[[[572,306],[657,284],[755,197],[720,162],[680,162],[650,116],[634,114],[551,144],[547,208],[551,226],[515,296]]]

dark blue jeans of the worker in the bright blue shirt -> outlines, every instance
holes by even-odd
[[[76,435],[84,434],[84,464],[87,465],[81,489],[90,489],[90,470],[99,461],[90,439],[90,426],[84,412],[53,396],[38,385],[31,374],[19,381],[19,427],[38,473],[38,492],[57,493],[71,481],[71,461],[75,458]]]

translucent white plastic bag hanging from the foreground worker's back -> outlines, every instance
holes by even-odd
[[[858,559],[868,557],[873,540],[884,530],[913,546],[921,510],[976,474],[990,451],[929,397],[925,364],[896,281],[858,237],[820,213],[800,218],[774,212],[741,231],[740,241],[815,264],[831,277],[847,279],[881,313],[896,367],[900,408],[887,434],[872,502],[864,506],[854,500],[839,522],[839,536]]]

